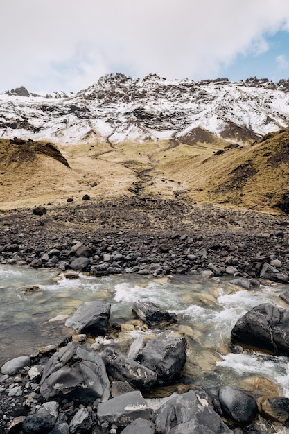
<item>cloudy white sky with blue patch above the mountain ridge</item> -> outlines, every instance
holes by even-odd
[[[75,92],[114,72],[289,77],[288,0],[1,0],[0,37],[0,92]]]

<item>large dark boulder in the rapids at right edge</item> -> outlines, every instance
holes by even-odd
[[[289,356],[289,309],[259,304],[239,318],[231,341],[243,347]]]

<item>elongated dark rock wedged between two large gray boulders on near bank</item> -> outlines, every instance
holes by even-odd
[[[120,381],[128,381],[134,388],[150,388],[157,381],[157,374],[142,366],[124,354],[117,353],[107,347],[101,354],[107,372],[112,378]]]

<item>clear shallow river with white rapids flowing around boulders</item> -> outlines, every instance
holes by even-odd
[[[28,286],[39,289],[26,292]],[[49,320],[60,314],[71,315],[82,302],[107,300],[112,303],[110,322],[130,322],[134,320],[132,302],[146,299],[177,313],[179,322],[167,329],[124,331],[119,338],[124,350],[143,333],[170,336],[178,331],[188,340],[184,372],[195,384],[240,387],[245,380],[261,376],[289,397],[288,358],[253,351],[234,354],[229,347],[236,320],[264,302],[286,307],[279,294],[287,289],[276,284],[243,290],[229,281],[193,276],[166,281],[136,275],[80,275],[69,280],[55,270],[0,266],[0,365],[13,356],[29,355],[39,346],[58,343],[69,329],[64,327],[65,320]],[[110,343],[105,338],[98,342]]]

